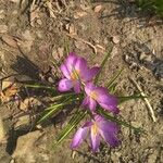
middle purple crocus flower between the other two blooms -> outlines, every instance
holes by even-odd
[[[96,110],[97,103],[103,109],[115,114],[120,112],[117,108],[117,98],[111,96],[104,87],[97,87],[92,83],[87,83],[85,86],[86,98],[83,105],[88,105],[91,111]]]

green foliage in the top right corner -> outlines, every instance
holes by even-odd
[[[149,10],[163,16],[163,0],[137,0],[137,3],[141,10]]]

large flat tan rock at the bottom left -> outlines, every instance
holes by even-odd
[[[41,136],[42,133],[36,130],[18,137],[16,149],[12,154],[15,161],[21,163],[23,160],[24,163],[35,163],[38,155],[35,145]]]

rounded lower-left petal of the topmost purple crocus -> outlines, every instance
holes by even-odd
[[[59,82],[59,91],[67,91],[73,88],[73,84],[70,79],[63,78]]]

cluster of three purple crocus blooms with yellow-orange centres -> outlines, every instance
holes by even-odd
[[[88,133],[90,133],[92,151],[98,151],[101,138],[111,147],[116,147],[120,143],[117,139],[120,127],[96,113],[97,104],[114,114],[120,112],[117,98],[111,96],[106,88],[93,85],[92,79],[98,74],[99,67],[89,68],[84,58],[71,52],[61,65],[61,71],[65,78],[60,80],[59,90],[67,91],[74,88],[77,93],[83,91],[85,93],[83,106],[89,106],[92,118],[77,130],[71,145],[72,149],[77,148]]]

